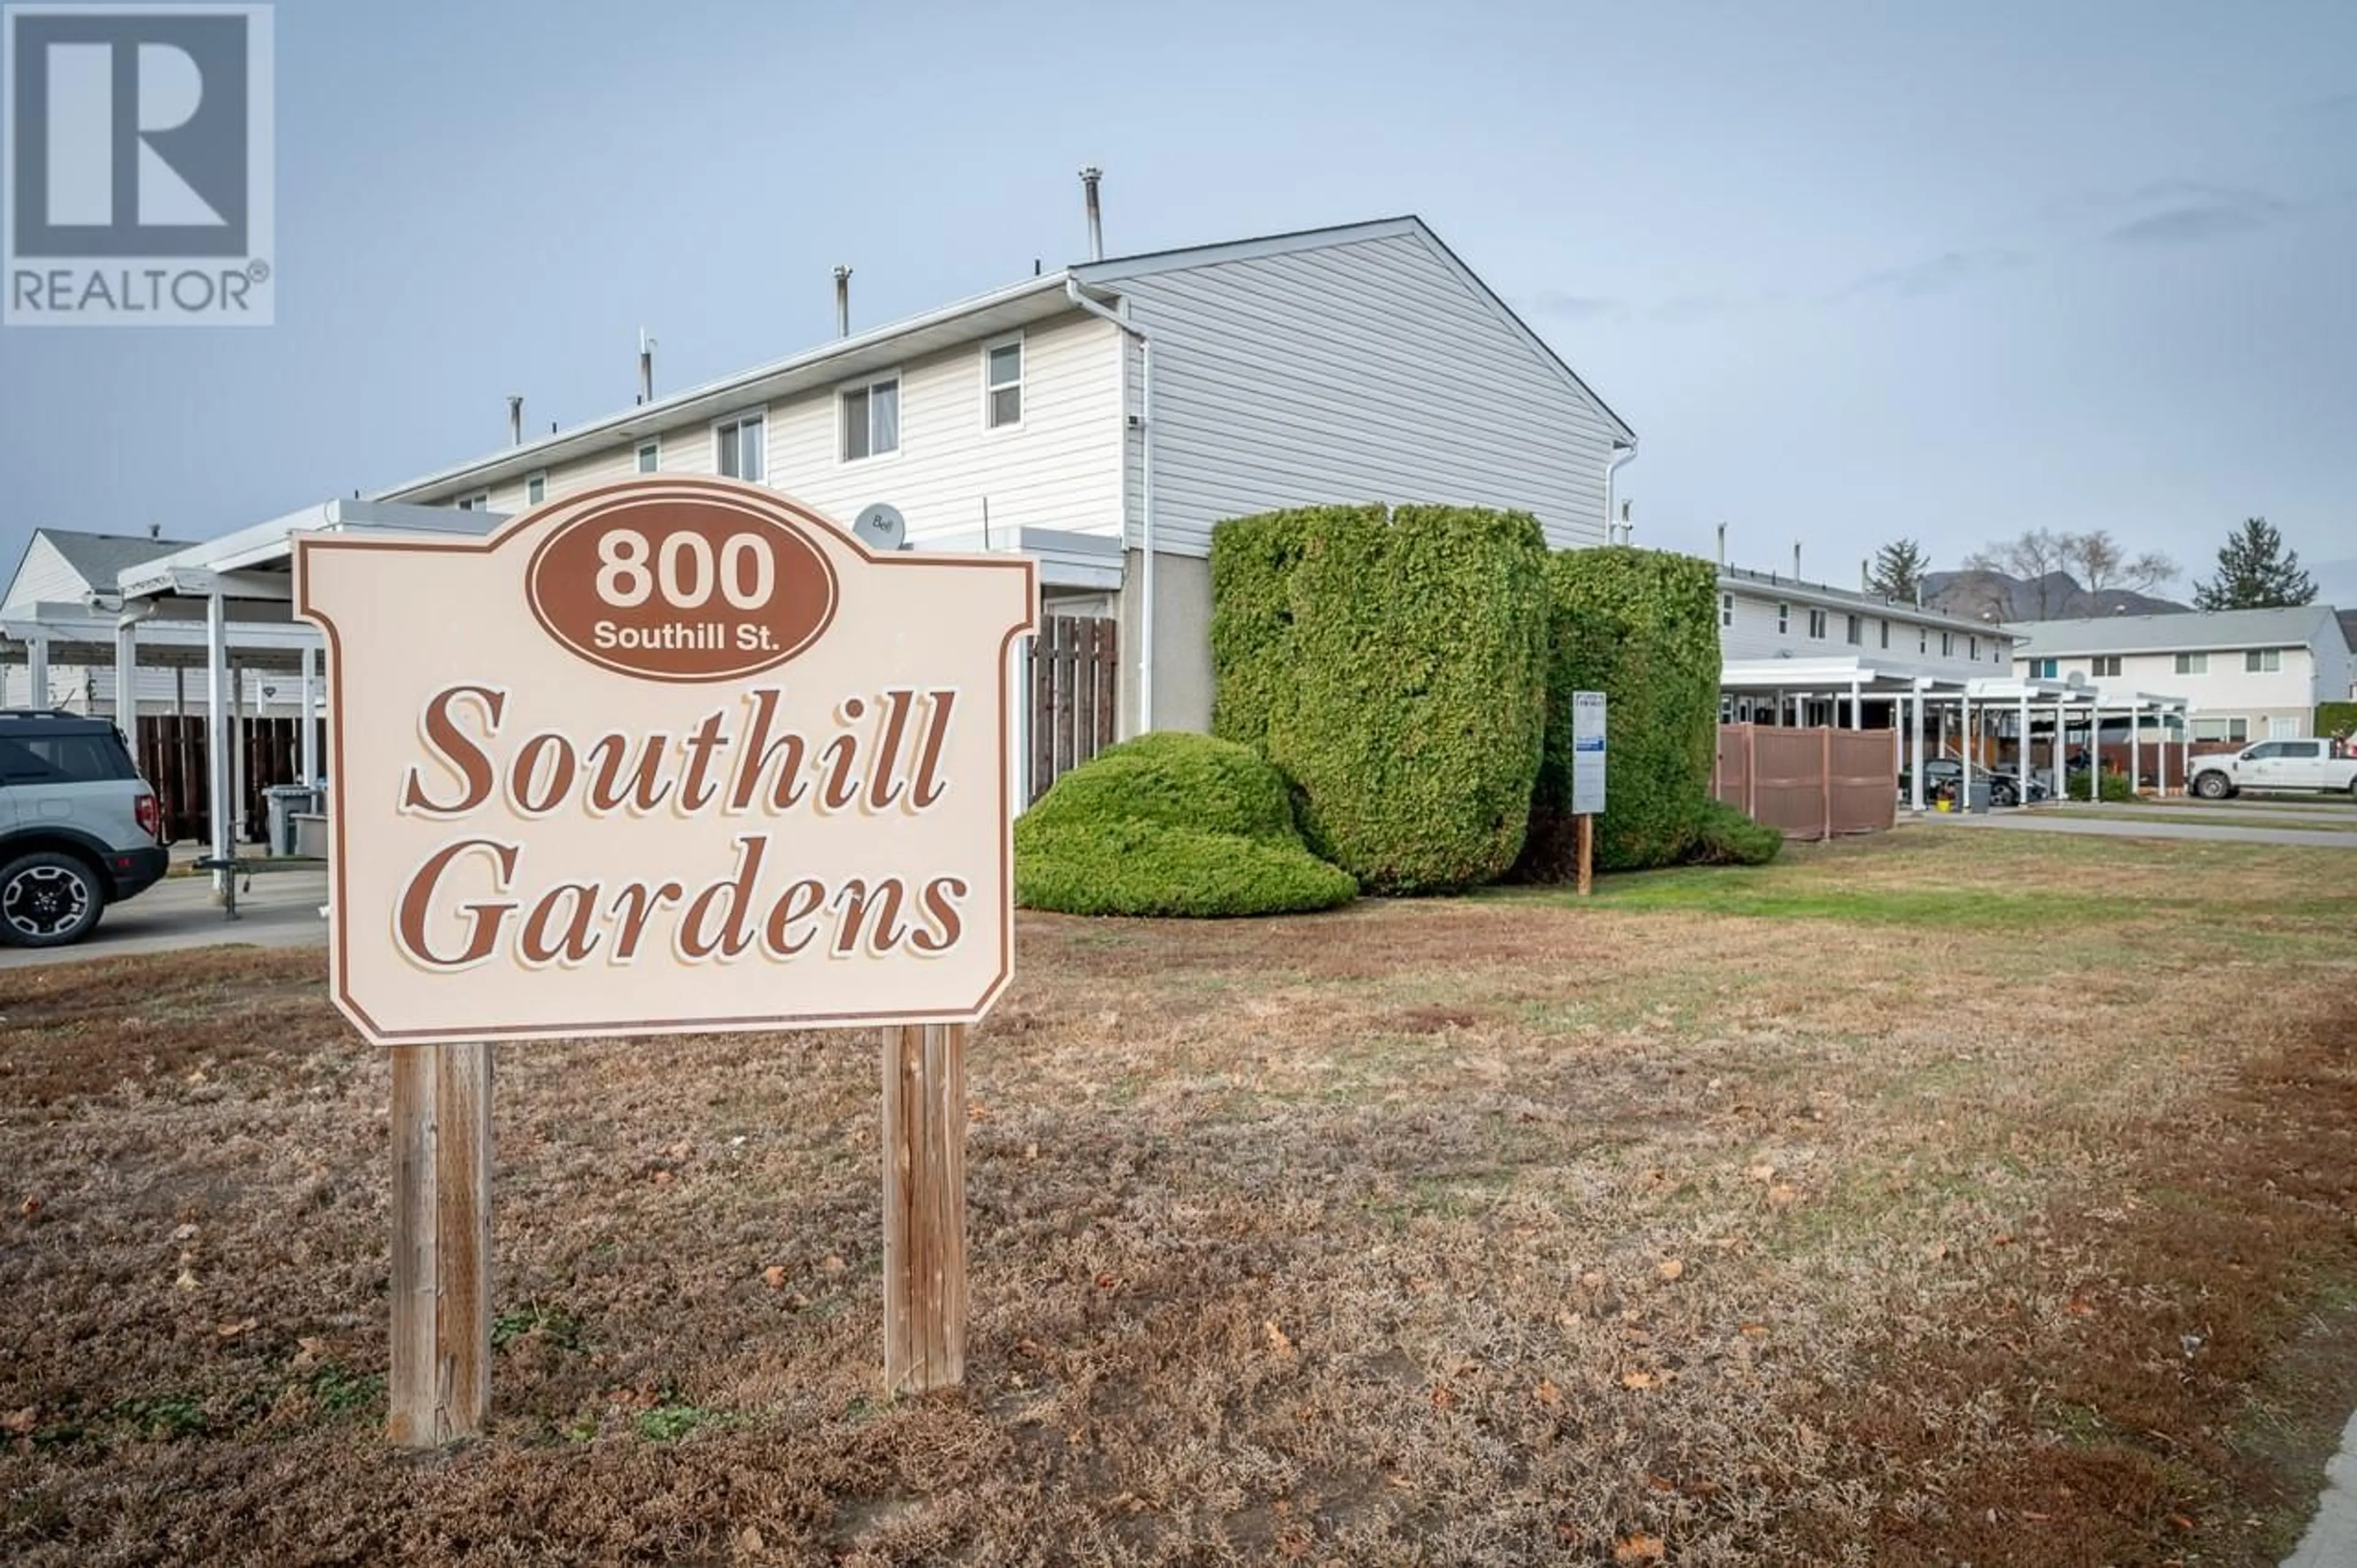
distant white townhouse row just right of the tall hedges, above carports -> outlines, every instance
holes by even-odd
[[[1723,565],[1718,659],[1730,723],[1900,727],[1909,692],[2008,678],[2013,636],[1881,593]]]

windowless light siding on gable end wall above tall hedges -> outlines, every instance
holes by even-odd
[[[1157,549],[1202,556],[1223,518],[1334,499],[1525,509],[1556,546],[1605,542],[1610,421],[1421,235],[1113,287],[1153,339]]]

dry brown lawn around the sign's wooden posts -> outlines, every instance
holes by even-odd
[[[321,956],[12,970],[0,1559],[2272,1563],[2357,1398],[2350,869],[1909,829],[1025,918],[924,1401],[870,1038],[504,1048],[436,1455]]]

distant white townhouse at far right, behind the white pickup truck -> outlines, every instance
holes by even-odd
[[[2350,692],[2350,640],[2329,605],[2020,622],[2011,631],[2025,678],[2081,676],[2105,692],[2183,695],[2194,742],[2298,739],[2315,730],[2319,702]]]

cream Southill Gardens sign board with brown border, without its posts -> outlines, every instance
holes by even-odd
[[[1006,986],[1028,560],[648,478],[488,539],[304,534],[295,572],[368,1038],[950,1024]]]

